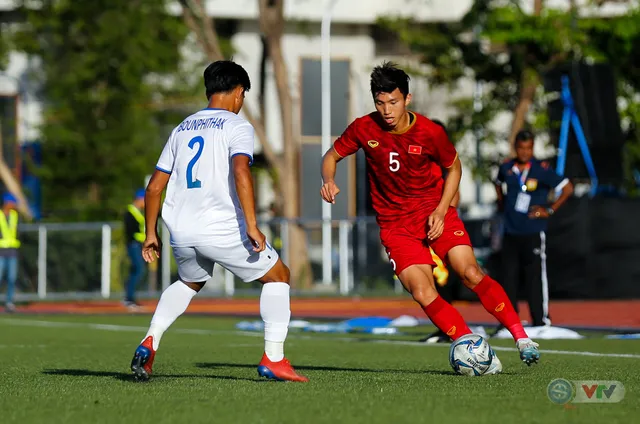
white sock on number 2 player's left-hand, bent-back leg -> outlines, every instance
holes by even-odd
[[[142,340],[144,341],[147,337],[153,336],[153,350],[158,350],[158,345],[164,332],[187,310],[191,299],[197,293],[197,291],[189,288],[180,280],[167,287],[162,292],[162,296],[160,296],[156,312],[151,318],[149,331]]]

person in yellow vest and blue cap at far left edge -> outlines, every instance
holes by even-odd
[[[0,284],[6,275],[7,293],[5,296],[5,309],[14,312],[13,293],[18,277],[18,201],[11,193],[5,193],[2,197],[2,213],[0,214]],[[5,274],[6,272],[6,274]]]

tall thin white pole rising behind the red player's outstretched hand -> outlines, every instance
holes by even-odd
[[[322,154],[331,148],[331,18],[337,0],[326,0],[320,34],[322,38]],[[322,202],[322,283],[331,284],[331,204]]]

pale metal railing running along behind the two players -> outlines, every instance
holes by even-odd
[[[260,227],[270,242],[276,237],[282,241],[278,250],[287,264],[295,254],[289,244],[291,226],[297,225],[305,230],[315,287],[324,286],[327,291],[341,295],[380,288],[394,290],[393,273],[373,217],[331,221],[333,243],[329,252],[322,246],[322,224],[322,220],[274,219],[261,222]],[[22,224],[19,232],[22,247],[16,300],[108,299],[123,290],[128,259],[121,223]],[[485,230],[481,232],[486,233]],[[177,278],[169,232],[164,225],[161,225],[161,238],[161,260],[154,270],[159,284],[149,284],[146,293],[141,293],[144,291],[141,284],[139,293],[143,296],[157,296],[159,289],[164,290],[173,278]],[[327,254],[332,256],[333,264],[330,284],[322,278],[326,272],[323,265]],[[293,283],[295,286],[296,282]],[[231,272],[224,270],[212,278],[203,294],[233,296],[252,287],[259,285],[240,283]]]

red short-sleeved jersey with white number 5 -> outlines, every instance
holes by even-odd
[[[364,150],[371,200],[381,227],[425,231],[424,220],[442,198],[440,167],[451,167],[457,152],[442,127],[409,113],[412,122],[402,133],[384,130],[377,112],[358,118],[333,148],[343,157]]]

